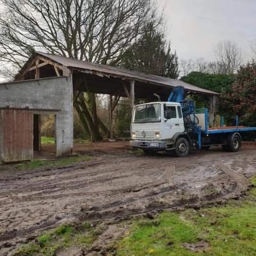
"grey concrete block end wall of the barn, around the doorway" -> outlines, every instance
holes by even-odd
[[[72,77],[52,77],[0,84],[0,108],[6,106],[60,109],[58,112],[51,112],[56,115],[56,156],[72,152],[74,125]]]

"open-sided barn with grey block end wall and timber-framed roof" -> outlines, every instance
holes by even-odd
[[[0,84],[0,162],[33,159],[33,151],[40,150],[44,114],[55,116],[56,156],[72,153],[73,97],[79,92],[109,95],[111,116],[120,97],[128,97],[133,107],[135,98],[153,100],[154,93],[165,100],[175,86],[209,97],[213,120],[216,92],[166,77],[35,52],[15,81]]]

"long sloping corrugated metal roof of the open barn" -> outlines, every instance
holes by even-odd
[[[56,61],[61,65],[64,65],[69,68],[79,68],[81,70],[88,70],[89,72],[102,74],[104,76],[116,76],[116,77],[124,77],[128,79],[134,79],[135,81],[143,81],[144,83],[152,83],[152,84],[160,84],[163,86],[184,86],[186,91],[204,93],[204,94],[214,94],[218,95],[219,93],[213,92],[211,90],[206,90],[200,87],[197,87],[192,84],[184,83],[183,81],[177,79],[171,79],[168,77],[154,76],[150,74],[145,74],[141,72],[126,70],[124,68],[112,67],[109,65],[102,65],[97,63],[92,63],[88,61],[74,60],[71,58],[56,56],[52,54],[48,54],[45,52],[36,52],[46,58],[51,59],[52,61]]]

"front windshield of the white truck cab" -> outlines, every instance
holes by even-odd
[[[134,108],[133,123],[161,122],[161,104],[145,104]]]

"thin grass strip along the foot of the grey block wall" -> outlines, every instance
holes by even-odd
[[[91,159],[92,157],[90,156],[78,155],[78,156],[60,158],[56,160],[33,160],[27,163],[15,164],[15,169],[16,170],[33,170],[40,166],[61,167],[61,166],[65,166],[72,163],[81,163],[81,162],[90,161]]]

